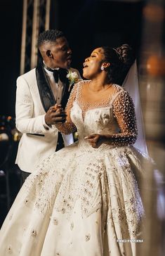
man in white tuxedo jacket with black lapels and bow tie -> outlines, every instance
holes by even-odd
[[[44,158],[55,151],[58,129],[55,122],[65,122],[55,104],[65,108],[73,84],[67,73],[79,72],[70,68],[72,51],[64,34],[46,30],[39,35],[38,48],[43,58],[37,68],[17,79],[16,127],[22,133],[15,163],[22,170],[22,179],[31,173]],[[72,134],[63,135],[65,146],[73,143]]]

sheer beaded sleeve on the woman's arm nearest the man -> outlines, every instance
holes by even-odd
[[[67,120],[66,122],[62,124],[55,124],[55,127],[58,128],[58,130],[62,134],[71,134],[72,132],[75,132],[77,127],[74,125],[70,118],[70,110],[72,108],[73,102],[77,96],[77,89],[78,89],[78,83],[74,84],[74,87],[70,93],[70,98],[67,101],[67,106],[65,108],[66,114],[67,114]]]

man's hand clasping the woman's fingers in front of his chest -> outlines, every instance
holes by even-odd
[[[45,122],[48,125],[62,124],[62,122],[65,122],[66,116],[67,115],[65,111],[61,108],[61,105],[55,104],[47,111],[45,115]]]

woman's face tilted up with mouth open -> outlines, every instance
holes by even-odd
[[[83,76],[86,79],[92,79],[100,74],[101,65],[103,64],[105,56],[103,49],[97,48],[92,53],[91,56],[85,59],[83,63]]]

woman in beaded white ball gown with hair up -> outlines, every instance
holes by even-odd
[[[53,153],[25,181],[1,228],[0,255],[136,255],[143,204],[135,174],[143,156],[133,102],[119,84],[131,49],[100,47],[84,62],[86,81],[57,124],[79,141]],[[57,106],[59,114],[63,110]],[[128,239],[128,243],[120,243]]]

